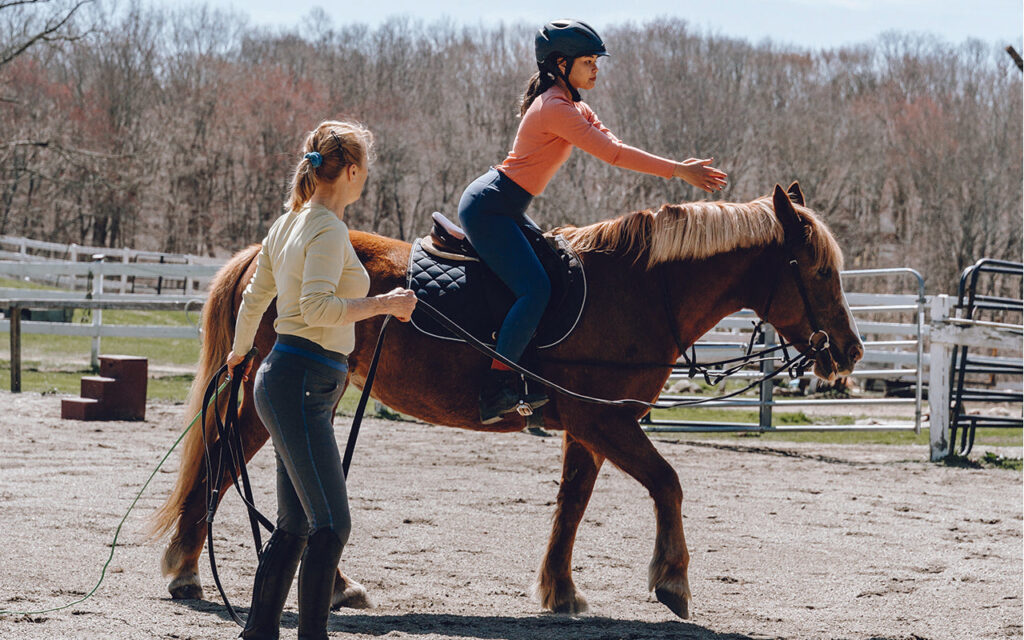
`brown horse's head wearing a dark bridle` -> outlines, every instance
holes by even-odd
[[[830,382],[850,374],[864,354],[840,281],[842,253],[804,206],[797,182],[787,191],[776,184],[772,204],[784,241],[761,316],[802,353],[814,354],[814,374]]]

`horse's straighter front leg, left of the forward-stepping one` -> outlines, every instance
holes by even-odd
[[[558,503],[548,551],[535,587],[541,606],[556,613],[582,613],[587,610],[586,598],[572,583],[572,546],[602,462],[603,457],[592,454],[568,432],[565,433]]]

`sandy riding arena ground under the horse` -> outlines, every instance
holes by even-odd
[[[81,598],[115,528],[174,441],[181,407],[148,420],[61,421],[59,397],[0,394],[0,609]],[[339,438],[348,420],[339,417]],[[693,617],[647,594],[651,501],[606,466],[580,528],[581,616],[530,597],[560,477],[558,437],[488,435],[369,420],[349,477],[353,532],[342,558],[373,609],[331,615],[337,638],[1020,638],[1021,474],[925,462],[908,446],[657,441],[679,473],[692,556]],[[1006,452],[1020,456],[1020,451]],[[172,600],[144,516],[176,457],[121,531],[99,591],[61,611],[0,616],[0,638],[233,638],[201,561],[204,600]],[[273,513],[272,455],[250,466]],[[233,493],[215,526],[221,577],[243,611],[256,568]],[[283,638],[295,637],[295,593]]]

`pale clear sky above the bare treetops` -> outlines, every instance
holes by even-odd
[[[157,5],[174,0],[151,0]],[[890,30],[931,33],[959,43],[967,38],[1021,48],[1021,0],[206,0],[249,16],[250,24],[295,26],[314,7],[336,25],[378,25],[394,15],[460,24],[523,22],[542,25],[577,17],[600,32],[627,20],[671,15],[700,31],[761,42],[835,47],[864,42]]]

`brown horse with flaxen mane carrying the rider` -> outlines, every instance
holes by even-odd
[[[702,202],[665,205],[584,227],[557,229],[577,248],[586,266],[589,298],[574,332],[543,352],[539,374],[590,396],[654,400],[670,371],[664,362],[724,316],[752,308],[801,351],[810,347],[809,314],[797,279],[788,267],[796,258],[806,299],[830,338],[817,354],[814,373],[824,379],[847,374],[863,353],[843,296],[842,254],[836,241],[804,206],[797,183],[788,191],[745,204]],[[786,234],[790,240],[786,241]],[[352,244],[370,272],[371,294],[406,283],[410,245],[352,231]],[[234,310],[255,268],[258,246],[241,251],[211,285],[204,308],[203,352],[186,417],[199,412],[202,386],[223,364],[230,347]],[[269,352],[273,310],[263,317],[256,346]],[[356,325],[356,347],[348,380],[362,386],[383,318]],[[559,362],[558,360],[561,360]],[[567,364],[590,360],[589,366]],[[606,365],[594,365],[600,360]],[[442,342],[414,327],[392,323],[381,354],[373,395],[421,420],[478,431],[518,431],[523,419],[510,414],[501,422],[478,422],[476,388],[489,360],[464,344]],[[649,366],[644,366],[648,364]],[[657,366],[663,364],[663,366]],[[639,366],[638,366],[639,365]],[[252,397],[252,382],[246,398]],[[253,406],[240,410],[246,458],[267,440]],[[644,434],[644,410],[604,407],[553,395],[545,409],[546,426],[564,431],[561,487],[537,592],[544,608],[580,612],[587,602],[570,574],[577,527],[605,460],[636,478],[650,493],[656,514],[649,588],[676,614],[687,617],[689,553],[683,538],[679,478]],[[206,437],[215,431],[206,425]],[[218,446],[219,443],[214,443]],[[216,452],[214,452],[216,455]],[[206,535],[203,437],[194,429],[185,440],[177,484],[155,516],[155,530],[176,528],[163,557],[168,589],[176,598],[202,597],[197,566]],[[220,480],[226,488],[229,478]],[[221,495],[223,492],[221,492]],[[366,591],[340,571],[336,606],[366,606]]]

